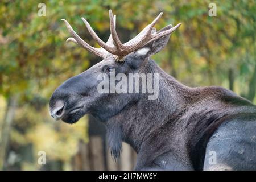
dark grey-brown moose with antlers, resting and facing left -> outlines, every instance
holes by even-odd
[[[134,148],[138,154],[135,170],[255,170],[256,106],[220,86],[191,88],[164,72],[150,57],[166,46],[181,23],[156,31],[162,14],[124,44],[118,38],[112,10],[106,43],[82,18],[101,48],[90,46],[62,19],[72,36],[67,42],[103,60],[53,92],[49,101],[52,118],[76,123],[92,114],[106,126],[114,159],[121,154],[122,141]],[[149,93],[98,93],[101,80],[97,76],[109,76],[113,70],[124,75],[157,73],[158,98],[148,99]]]

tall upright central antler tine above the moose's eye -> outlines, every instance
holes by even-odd
[[[110,32],[114,40],[115,48],[117,49],[116,50],[117,52],[114,52],[113,54],[125,56],[125,55],[122,55],[122,52],[125,50],[125,47],[123,46],[122,42],[118,38],[117,31],[115,30],[115,23],[114,23],[112,10],[109,10],[109,19],[110,19]]]

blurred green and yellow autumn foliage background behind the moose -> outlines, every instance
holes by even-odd
[[[209,16],[210,3],[216,5],[216,16]],[[256,104],[253,0],[1,0],[0,169],[133,169],[135,152],[123,144],[121,159],[114,162],[104,126],[90,115],[68,125],[53,121],[48,113],[57,86],[101,60],[65,43],[69,33],[60,19],[68,20],[81,38],[97,47],[81,17],[106,41],[109,9],[117,15],[122,42],[137,35],[160,11],[164,14],[157,29],[181,22],[167,47],[153,56],[160,67],[187,86],[224,86]],[[46,164],[40,158],[44,156]]]

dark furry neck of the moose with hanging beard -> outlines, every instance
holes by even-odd
[[[165,73],[153,60],[148,61],[144,72],[159,74],[158,98],[148,100],[148,95],[143,94],[139,100],[127,104],[106,122],[114,158],[119,156],[122,140],[129,143],[138,153],[145,135],[187,102],[184,96],[189,88]]]

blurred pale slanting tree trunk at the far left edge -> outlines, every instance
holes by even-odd
[[[3,169],[6,157],[6,151],[9,147],[9,134],[11,131],[11,124],[14,120],[17,96],[10,96],[7,104],[6,115],[3,120],[0,144],[0,169]]]

